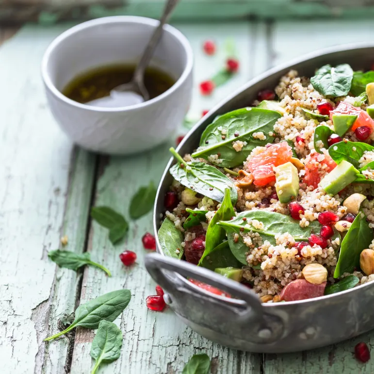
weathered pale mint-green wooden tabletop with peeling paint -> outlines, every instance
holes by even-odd
[[[181,373],[197,352],[212,358],[212,373],[373,373],[374,359],[363,365],[353,357],[355,344],[370,344],[371,333],[303,353],[251,354],[201,338],[170,309],[158,313],[146,308],[146,296],[154,294],[155,283],[144,267],[141,237],[152,231],[151,213],[131,222],[127,240],[114,247],[107,230],[91,222],[89,210],[108,205],[128,216],[134,192],[150,179],[158,183],[170,157],[168,146],[130,157],[107,157],[82,150],[66,138],[47,107],[40,61],[50,41],[68,26],[24,26],[0,47],[1,373],[90,373],[92,331],[78,328],[71,341],[42,340],[57,332],[80,303],[121,288],[132,294],[129,307],[116,321],[124,334],[122,353],[100,373]],[[196,84],[189,114],[193,118],[273,65],[318,48],[373,39],[370,20],[176,26],[195,50]],[[201,52],[207,38],[218,44],[215,57]],[[241,71],[211,98],[203,98],[197,83],[221,66],[228,38],[235,41]],[[170,142],[174,141],[175,137]],[[66,249],[90,252],[113,276],[91,267],[78,273],[56,268],[47,254],[59,247],[65,234]],[[130,269],[118,259],[124,249],[138,256]]]

